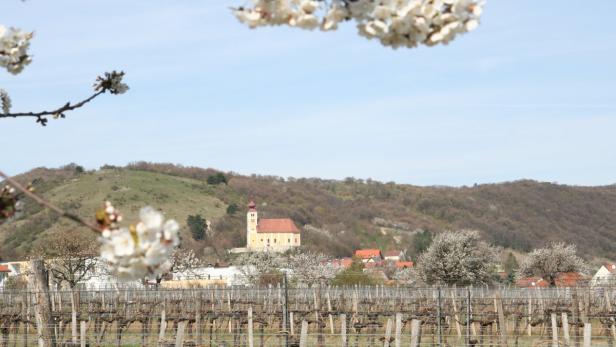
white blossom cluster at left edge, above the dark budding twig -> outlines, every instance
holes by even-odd
[[[0,25],[0,68],[16,75],[32,61],[28,55],[33,34]]]

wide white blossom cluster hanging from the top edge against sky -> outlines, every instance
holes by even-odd
[[[383,45],[416,47],[448,44],[477,28],[485,0],[252,0],[234,9],[250,28],[289,25],[336,30],[354,20],[359,35]]]

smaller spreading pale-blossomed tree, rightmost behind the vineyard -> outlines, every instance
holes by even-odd
[[[575,245],[557,242],[533,250],[520,265],[518,277],[539,276],[555,286],[559,274],[585,272],[586,268],[584,260],[577,255]]]

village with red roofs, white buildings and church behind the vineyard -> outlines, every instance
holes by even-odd
[[[194,252],[180,252],[174,257],[170,271],[159,278],[140,281],[119,281],[106,270],[106,263],[96,257],[48,259],[52,274],[50,286],[57,289],[100,290],[113,288],[160,287],[172,289],[207,288],[211,286],[259,286],[276,284],[281,276],[298,278],[304,285],[338,283],[382,284],[390,286],[425,287],[455,283],[426,283],[418,280],[416,260],[407,257],[404,250],[357,249],[349,257],[331,258],[321,254],[302,252],[301,229],[289,218],[259,218],[256,204],[250,201],[246,213],[246,247],[230,249],[235,258],[231,264],[203,264]],[[285,261],[287,259],[288,261]],[[295,261],[293,261],[295,260]],[[308,270],[307,270],[308,269]],[[557,271],[554,278],[520,276],[515,269],[505,269],[495,263],[489,282],[470,283],[515,288],[600,287],[616,282],[616,264],[605,263],[587,273]],[[73,273],[67,273],[67,272]],[[312,273],[306,273],[312,271]],[[29,274],[28,261],[0,263],[0,290],[25,288]],[[304,278],[301,278],[303,275]],[[345,276],[346,275],[346,276]],[[271,277],[268,280],[267,277]],[[313,279],[307,277],[313,276]],[[350,276],[350,277],[349,277]],[[72,278],[73,282],[62,281]],[[340,281],[340,279],[344,281]],[[297,281],[296,281],[297,283]],[[458,284],[465,284],[463,282]]]

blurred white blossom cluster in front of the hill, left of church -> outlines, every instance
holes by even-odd
[[[119,227],[122,218],[108,202],[96,219],[103,229],[101,258],[119,280],[160,276],[169,271],[170,257],[180,242],[176,221],[165,221],[162,213],[144,207],[139,212],[137,225]]]

